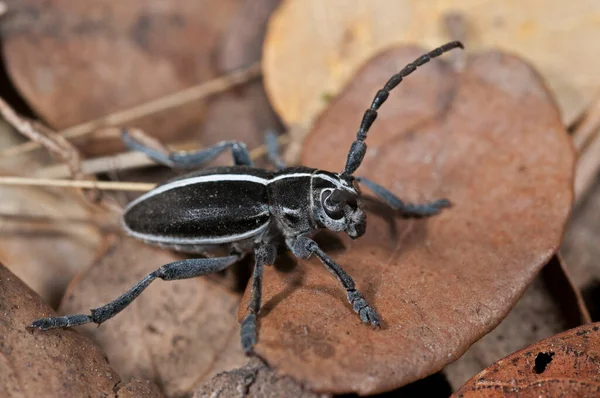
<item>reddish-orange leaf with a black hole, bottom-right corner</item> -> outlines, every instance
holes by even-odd
[[[600,396],[600,323],[571,329],[515,352],[452,396]]]

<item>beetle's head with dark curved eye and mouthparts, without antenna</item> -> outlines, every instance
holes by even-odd
[[[315,178],[313,203],[315,219],[322,228],[345,231],[352,239],[365,233],[367,216],[362,209],[360,190],[351,176],[323,173],[328,178]]]

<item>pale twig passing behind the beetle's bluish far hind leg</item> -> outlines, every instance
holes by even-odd
[[[280,145],[289,142],[289,137],[283,135],[279,137]],[[190,149],[192,144],[174,145],[175,149]],[[266,154],[267,148],[262,145],[250,151],[251,159],[258,159]],[[84,174],[106,173],[110,171],[129,170],[146,166],[156,165],[154,161],[141,152],[125,152],[112,156],[102,156],[93,159],[84,160],[81,163],[81,170]],[[65,165],[55,165],[45,167],[34,173],[36,177],[41,178],[66,178],[69,176],[69,170]]]

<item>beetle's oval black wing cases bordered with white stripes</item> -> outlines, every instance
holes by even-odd
[[[173,181],[133,201],[123,227],[136,238],[172,245],[251,238],[269,224],[266,181],[231,174]]]

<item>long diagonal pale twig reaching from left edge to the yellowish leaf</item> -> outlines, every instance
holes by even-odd
[[[218,77],[196,86],[188,87],[177,93],[158,98],[153,101],[134,106],[105,117],[95,119],[63,130],[60,134],[68,139],[81,137],[99,128],[118,126],[139,119],[143,116],[176,108],[191,101],[200,100],[209,95],[217,94],[236,85],[248,82],[260,76],[260,64],[256,63],[247,68],[239,69],[228,75]],[[0,152],[0,156],[15,156],[40,148],[37,142],[30,141]]]

